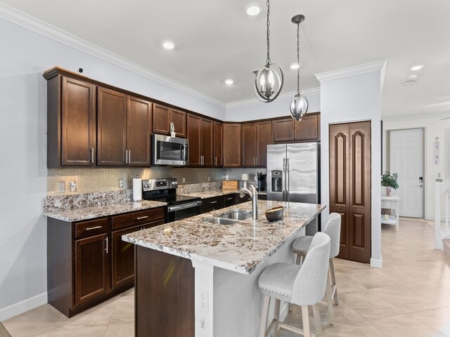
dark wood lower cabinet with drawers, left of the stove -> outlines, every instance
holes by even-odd
[[[164,223],[164,207],[79,222],[47,219],[49,304],[77,315],[134,286],[134,246],[122,235]]]

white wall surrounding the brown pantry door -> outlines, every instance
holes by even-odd
[[[341,70],[342,74],[346,70]],[[352,70],[348,71],[349,73]],[[333,72],[336,73],[336,72]],[[372,257],[371,265],[381,267],[380,169],[381,169],[381,70],[345,77],[318,75],[321,81],[321,200],[329,206],[329,124],[371,120],[372,152]],[[325,225],[329,208],[323,212]]]

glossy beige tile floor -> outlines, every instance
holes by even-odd
[[[382,237],[382,269],[335,260],[340,305],[335,326],[321,306],[323,336],[450,337],[450,256],[433,249],[432,227],[401,220],[400,232],[387,225]],[[286,322],[301,327],[300,317],[294,307]],[[2,323],[13,337],[112,337],[134,336],[133,319],[131,289],[71,319],[41,305]],[[298,335],[281,329],[278,336]]]

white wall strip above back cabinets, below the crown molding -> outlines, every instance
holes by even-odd
[[[289,105],[290,101],[294,98],[294,94],[281,94],[271,103],[262,103],[255,98],[255,100],[227,105],[225,119],[226,121],[251,121],[255,119],[290,116]],[[302,95],[308,100],[308,112],[321,111],[319,90],[305,90],[302,91]]]

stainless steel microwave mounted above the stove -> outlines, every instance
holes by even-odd
[[[152,135],[152,165],[186,166],[189,164],[189,140]]]

